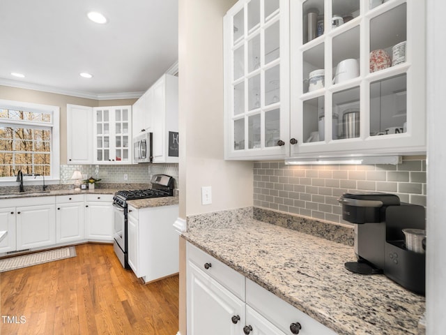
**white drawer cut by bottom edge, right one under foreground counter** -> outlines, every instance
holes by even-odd
[[[299,322],[302,326],[300,335],[336,334],[309,315],[299,311],[298,308],[291,306],[291,304],[249,279],[246,279],[246,303],[285,334],[292,334],[290,325],[296,322]]]

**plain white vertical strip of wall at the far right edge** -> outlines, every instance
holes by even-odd
[[[427,3],[427,250],[426,334],[446,329],[446,3]]]

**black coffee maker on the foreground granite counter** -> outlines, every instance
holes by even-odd
[[[400,202],[387,193],[344,193],[342,218],[355,223],[357,262],[346,269],[357,274],[385,274],[410,291],[424,295],[426,254],[406,248],[403,229],[426,227],[424,207]]]

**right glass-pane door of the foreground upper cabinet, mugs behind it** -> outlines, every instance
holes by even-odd
[[[424,1],[291,1],[291,157],[426,150]]]

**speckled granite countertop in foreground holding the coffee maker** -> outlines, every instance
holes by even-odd
[[[338,334],[420,334],[425,298],[344,268],[352,246],[239,214],[188,218],[183,237]]]

